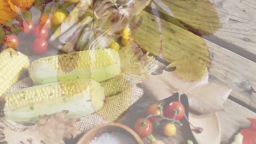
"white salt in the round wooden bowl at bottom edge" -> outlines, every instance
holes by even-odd
[[[124,133],[111,132],[95,137],[90,144],[137,144],[130,136]]]

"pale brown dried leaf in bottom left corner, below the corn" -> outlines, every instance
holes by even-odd
[[[68,111],[56,113],[53,116],[42,116],[31,128],[24,131],[13,130],[9,127],[3,129],[4,139],[1,142],[7,143],[65,143],[63,140],[71,139],[81,132],[74,125],[80,121],[79,118],[65,119]],[[15,137],[15,139],[14,139]]]

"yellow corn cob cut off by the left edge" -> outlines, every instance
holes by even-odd
[[[30,60],[14,49],[7,49],[0,53],[0,97],[30,66]]]

